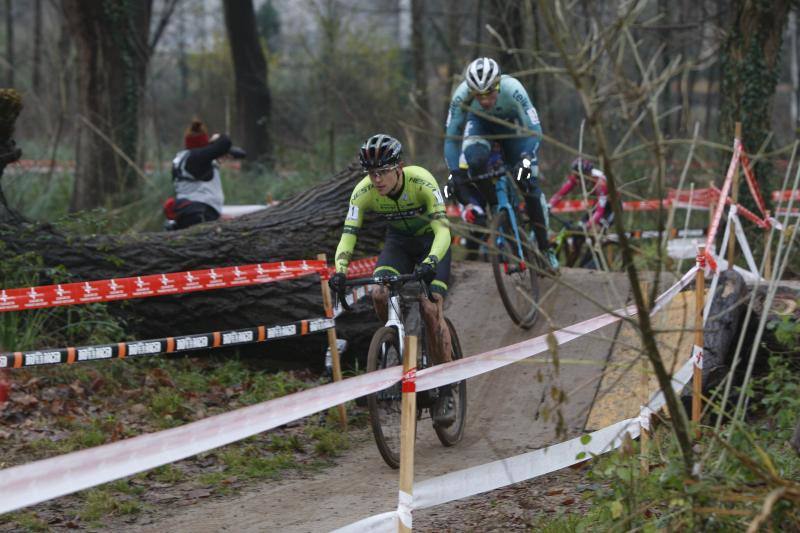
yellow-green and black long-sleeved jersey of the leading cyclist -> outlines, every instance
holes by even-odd
[[[422,167],[403,168],[403,187],[395,196],[381,196],[365,176],[350,196],[344,231],[336,248],[336,271],[347,272],[364,214],[374,212],[389,222],[390,231],[420,236],[433,233],[429,256],[440,260],[450,247],[450,229],[439,184]]]

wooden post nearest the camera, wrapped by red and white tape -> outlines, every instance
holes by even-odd
[[[406,337],[403,354],[403,401],[400,411],[400,493],[397,531],[411,531],[414,487],[414,439],[417,428],[417,338]]]

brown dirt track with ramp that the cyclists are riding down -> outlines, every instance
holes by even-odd
[[[546,315],[530,331],[508,319],[488,264],[455,267],[447,314],[453,320],[465,355],[480,353],[540,335],[600,314],[580,293],[617,307],[628,295],[621,274],[566,270],[556,286],[543,287]],[[570,289],[574,288],[575,290]],[[548,323],[549,322],[549,323]],[[524,453],[579,434],[584,427],[617,326],[564,345],[560,376],[546,356],[509,365],[468,382],[468,421],[464,440],[443,448],[428,421],[420,423],[416,446],[417,479]],[[564,427],[557,434],[543,405],[553,384],[567,392]],[[304,479],[265,483],[235,497],[199,501],[168,514],[141,517],[130,531],[327,531],[397,505],[397,472],[381,460],[368,435],[337,460],[337,466]],[[479,498],[479,497],[478,497]],[[474,498],[472,498],[474,499]],[[455,509],[451,504],[450,508]],[[415,526],[447,515],[448,505],[415,513]],[[454,523],[458,523],[457,521]],[[429,525],[432,525],[429,523]]]

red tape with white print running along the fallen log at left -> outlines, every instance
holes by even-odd
[[[281,261],[279,263],[219,267],[130,278],[2,289],[0,290],[0,312],[244,287],[294,279],[314,273],[327,276],[327,265],[324,261]]]

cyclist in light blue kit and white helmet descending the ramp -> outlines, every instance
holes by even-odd
[[[510,167],[521,166],[527,160],[530,172],[517,184],[525,197],[525,210],[539,250],[547,257],[551,268],[557,270],[558,259],[547,241],[547,200],[539,188],[542,125],[536,108],[519,80],[501,74],[493,59],[479,57],[472,61],[464,78],[453,92],[445,124],[444,158],[450,170],[448,189],[453,189],[465,209],[482,210],[486,206],[483,194],[468,182],[468,178],[470,174],[486,172],[492,141],[500,144],[503,160]]]

